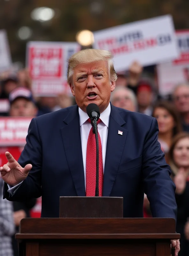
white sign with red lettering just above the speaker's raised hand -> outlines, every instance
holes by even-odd
[[[32,117],[1,117],[0,146],[24,146]]]

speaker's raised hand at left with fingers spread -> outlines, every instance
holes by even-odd
[[[0,167],[1,177],[8,185],[15,186],[26,179],[29,171],[32,169],[32,165],[26,164],[22,168],[9,152],[5,152],[5,156],[8,163]]]

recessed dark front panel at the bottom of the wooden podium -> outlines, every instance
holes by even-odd
[[[40,247],[40,256],[155,256],[155,243],[145,241],[137,243],[124,240],[111,241],[66,241],[66,243],[44,243]],[[167,255],[159,255],[167,256]]]

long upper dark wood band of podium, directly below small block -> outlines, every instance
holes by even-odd
[[[20,221],[24,234],[169,234],[175,233],[171,218],[26,218]]]

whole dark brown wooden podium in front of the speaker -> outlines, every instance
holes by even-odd
[[[65,214],[61,212],[63,210],[60,214],[67,216],[70,209],[64,207],[74,200],[77,216],[92,211],[91,215],[95,218],[22,219],[19,234],[16,234],[19,256],[170,256],[170,240],[180,237],[175,234],[175,220],[171,218],[110,217],[111,214],[115,215],[115,204],[123,209],[123,198],[62,197],[60,208],[64,209]],[[91,204],[91,200],[94,200],[94,204]],[[108,218],[104,217],[107,202]],[[78,206],[81,205],[85,208],[79,210]],[[101,208],[102,216],[97,218],[94,212],[100,214],[99,205],[104,207],[103,210]],[[117,209],[118,214],[120,209]]]

